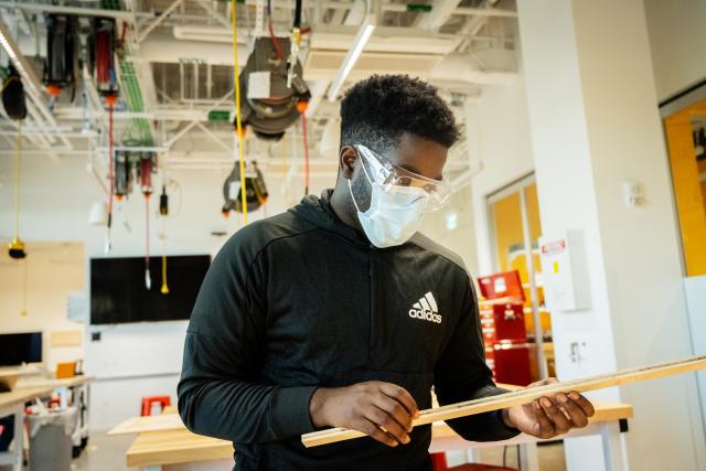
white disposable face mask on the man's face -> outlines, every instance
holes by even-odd
[[[361,164],[373,186],[371,206],[367,211],[363,213],[359,208],[350,179],[349,191],[365,235],[375,247],[379,248],[406,243],[421,225],[428,193],[415,186],[394,186],[387,192],[379,183],[371,180],[365,164],[363,162]]]

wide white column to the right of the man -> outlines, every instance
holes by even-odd
[[[560,378],[692,354],[678,233],[640,0],[518,0],[542,227],[584,234],[590,309],[554,312]],[[685,32],[686,34],[686,32]],[[644,188],[623,202],[623,182]],[[585,342],[582,358],[569,356]],[[635,408],[630,469],[706,469],[695,376],[610,389]],[[569,470],[602,469],[600,441],[566,442]]]

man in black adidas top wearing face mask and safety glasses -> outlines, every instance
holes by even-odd
[[[477,298],[459,257],[417,233],[450,189],[458,139],[434,87],[373,76],[341,104],[336,185],[243,228],[215,258],[191,315],[179,411],[232,440],[235,469],[431,470],[418,409],[496,395]],[[463,438],[542,438],[593,414],[577,393],[450,420]],[[370,437],[307,449],[300,435]]]

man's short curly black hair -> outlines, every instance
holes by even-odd
[[[353,85],[341,103],[341,147],[394,149],[403,133],[447,148],[459,139],[453,111],[437,88],[409,75],[373,75]]]

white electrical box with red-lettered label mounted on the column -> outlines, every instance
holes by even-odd
[[[584,236],[579,231],[566,231],[539,237],[539,257],[547,309],[580,311],[590,308],[588,264]]]

